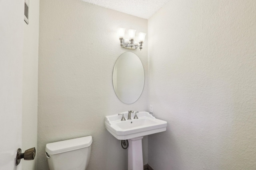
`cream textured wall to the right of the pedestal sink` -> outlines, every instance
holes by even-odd
[[[256,169],[256,1],[171,0],[148,21],[155,170]]]

